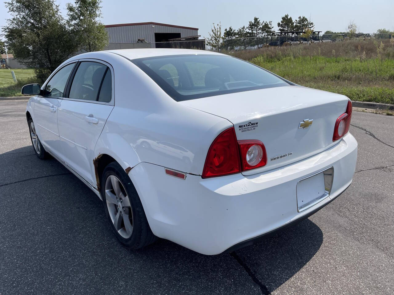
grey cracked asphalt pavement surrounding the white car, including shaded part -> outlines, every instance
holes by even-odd
[[[301,223],[231,254],[167,240],[131,251],[102,202],[39,160],[26,100],[0,101],[0,294],[393,294],[394,117],[353,112],[351,186]]]

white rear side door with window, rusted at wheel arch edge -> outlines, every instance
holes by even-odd
[[[114,106],[113,68],[95,60],[78,62],[58,108],[63,159],[93,184],[93,152]]]

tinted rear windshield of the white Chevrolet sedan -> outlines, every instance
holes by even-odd
[[[132,62],[176,101],[289,85],[258,66],[227,55],[171,55]]]

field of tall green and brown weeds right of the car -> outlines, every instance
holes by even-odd
[[[229,52],[296,84],[351,100],[394,103],[394,39],[349,40]]]

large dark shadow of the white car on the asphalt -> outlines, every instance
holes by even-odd
[[[116,240],[99,198],[57,160],[27,146],[0,161],[4,293],[261,294],[261,285],[272,292],[295,275],[323,242],[306,219],[235,255],[206,256],[163,239],[133,251]]]

